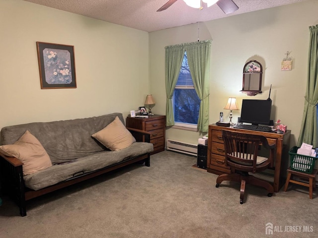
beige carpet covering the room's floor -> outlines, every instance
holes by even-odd
[[[316,192],[310,200],[308,188],[295,185],[267,197],[248,186],[241,205],[239,184],[216,188],[217,175],[193,168],[195,161],[164,151],[151,167],[128,166],[30,200],[26,217],[2,196],[0,238],[318,237]]]

